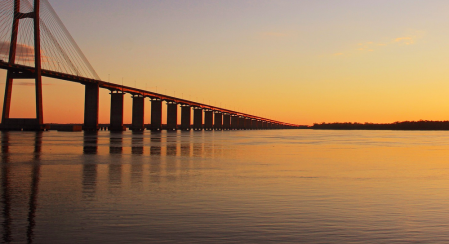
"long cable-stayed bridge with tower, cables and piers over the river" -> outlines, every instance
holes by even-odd
[[[7,70],[1,130],[44,130],[42,77],[85,86],[85,131],[99,129],[99,89],[111,94],[109,130],[123,131],[123,96],[131,94],[132,126],[162,130],[162,103],[167,103],[167,130],[294,129],[299,125],[263,118],[208,104],[102,81],[48,0],[4,0],[0,3],[0,68]],[[19,28],[20,27],[20,28]],[[34,79],[36,118],[10,118],[12,86],[16,79]],[[144,121],[145,99],[151,100],[151,123]],[[181,125],[178,126],[178,106]],[[193,124],[192,124],[193,110]]]

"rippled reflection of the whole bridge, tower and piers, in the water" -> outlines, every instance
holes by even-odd
[[[38,201],[42,169],[53,177],[46,181],[65,182],[64,185],[69,186],[71,190],[62,195],[78,195],[76,192],[79,192],[85,202],[95,201],[98,194],[113,194],[123,184],[151,191],[152,184],[177,181],[179,177],[185,179],[203,167],[203,163],[198,163],[201,160],[196,160],[195,164],[194,158],[206,159],[221,154],[219,147],[204,145],[201,133],[195,132],[196,136],[192,133],[2,132],[2,241],[33,242],[35,228],[39,226],[36,212],[40,205],[47,205]],[[69,138],[73,144],[68,147],[58,141]],[[68,148],[70,150],[64,151]],[[70,172],[61,174],[62,177],[58,171],[64,167],[55,166],[53,162],[75,165],[70,166]],[[81,177],[77,177],[76,172]],[[106,181],[102,180],[104,177]],[[48,200],[49,190],[43,192]]]

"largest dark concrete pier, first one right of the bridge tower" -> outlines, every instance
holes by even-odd
[[[83,129],[86,131],[98,130],[99,91],[98,84],[85,85]]]

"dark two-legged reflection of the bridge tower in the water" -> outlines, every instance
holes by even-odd
[[[20,147],[21,150],[26,150],[26,146],[9,132],[1,134],[3,243],[33,242],[41,170],[42,134],[43,132],[35,132],[26,136],[27,140],[33,142],[33,145],[29,144],[29,148],[33,150],[29,151],[27,163],[21,166],[17,166],[16,161],[11,159],[10,149]],[[19,179],[17,175],[24,178]],[[16,219],[20,224],[14,223]]]

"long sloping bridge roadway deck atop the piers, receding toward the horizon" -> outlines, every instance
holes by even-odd
[[[16,73],[23,73],[24,78],[35,73],[34,67],[18,65],[18,64],[12,65],[12,64],[6,63],[2,60],[0,60],[0,68],[14,71]],[[151,91],[137,89],[137,88],[133,88],[133,87],[129,87],[129,86],[118,85],[118,84],[105,82],[105,81],[101,81],[101,80],[96,80],[96,79],[91,79],[91,78],[69,75],[69,74],[64,74],[64,73],[60,73],[60,72],[44,70],[44,69],[42,69],[42,76],[60,79],[60,80],[66,80],[66,81],[70,81],[70,82],[81,83],[83,85],[90,85],[90,84],[98,85],[100,88],[108,89],[111,92],[129,93],[134,96],[142,96],[142,97],[149,97],[151,99],[159,99],[161,101],[166,101],[166,102],[170,102],[170,103],[181,104],[184,106],[190,106],[190,107],[194,107],[194,108],[201,108],[206,111],[209,110],[209,111],[229,114],[231,116],[239,116],[239,117],[249,118],[252,120],[260,120],[260,121],[263,121],[266,123],[270,123],[272,125],[280,126],[281,128],[297,128],[298,127],[298,125],[295,125],[295,124],[284,123],[284,122],[280,122],[280,121],[276,121],[276,120],[272,120],[272,119],[268,119],[268,118],[254,116],[251,114],[241,113],[241,112],[237,112],[237,111],[233,111],[233,110],[229,110],[229,109],[219,108],[219,107],[215,107],[215,106],[211,106],[211,105],[207,105],[207,104],[203,104],[203,103],[193,102],[193,101],[189,101],[189,100],[185,100],[185,99],[179,99],[179,98],[172,97],[172,96],[167,96],[167,95],[163,95],[163,94],[159,94],[159,93],[155,93],[155,92],[151,92]],[[206,117],[207,117],[207,115],[206,115]]]

